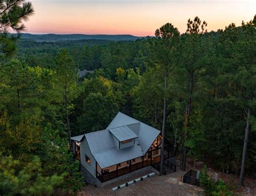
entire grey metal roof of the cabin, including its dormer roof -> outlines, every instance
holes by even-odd
[[[106,168],[143,156],[159,133],[160,131],[153,127],[118,112],[106,130],[86,133],[71,139],[77,141],[85,136],[93,157],[101,168]],[[114,137],[119,141],[135,138],[135,144],[119,149]]]

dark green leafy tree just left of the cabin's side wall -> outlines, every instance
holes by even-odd
[[[59,131],[53,130],[50,124],[43,130],[42,143],[39,147],[39,156],[42,157],[45,175],[57,173],[65,178],[60,188],[76,193],[82,186],[83,176],[79,171],[79,161],[73,160],[73,154],[69,152],[69,145],[64,138],[60,138]]]

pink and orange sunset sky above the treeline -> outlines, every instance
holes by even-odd
[[[186,31],[188,18],[198,16],[207,30],[224,29],[231,23],[250,21],[255,0],[30,0],[35,15],[26,32],[129,34],[153,36],[161,25],[172,23]]]

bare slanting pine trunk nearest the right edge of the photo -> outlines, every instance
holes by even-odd
[[[250,114],[251,114],[251,109],[249,108],[247,112],[244,148],[242,150],[242,165],[241,165],[241,172],[240,172],[240,178],[239,178],[239,184],[238,184],[239,186],[244,185],[245,159],[246,159],[247,144],[248,144],[249,132],[250,132],[250,122],[249,122]]]

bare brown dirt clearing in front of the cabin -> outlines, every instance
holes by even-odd
[[[117,183],[99,188],[92,185],[85,186],[79,195],[198,195],[202,192],[201,188],[180,182],[180,177],[185,172],[177,171],[164,176],[156,175],[139,181],[128,187],[112,191]],[[143,176],[142,174],[141,176]],[[136,178],[136,177],[135,177]],[[134,179],[135,179],[134,178]],[[126,181],[130,181],[127,179]],[[120,182],[122,184],[125,182]]]

